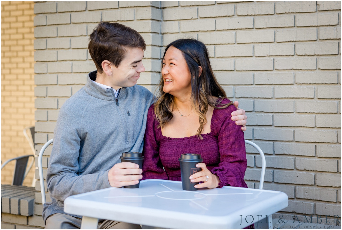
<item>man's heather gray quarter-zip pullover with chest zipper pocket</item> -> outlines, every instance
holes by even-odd
[[[96,71],[88,77],[95,81]],[[143,150],[153,94],[134,85],[115,97],[113,88],[103,89],[90,79],[58,114],[47,172],[51,202],[44,204],[44,221],[64,213],[68,196],[110,187],[108,171],[121,162],[121,153]]]

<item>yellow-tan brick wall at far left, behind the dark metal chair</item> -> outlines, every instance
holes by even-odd
[[[23,129],[34,118],[34,2],[1,2],[1,160],[32,154]],[[30,159],[31,160],[31,159]],[[1,170],[10,184],[14,162]],[[34,167],[23,185],[31,186]]]

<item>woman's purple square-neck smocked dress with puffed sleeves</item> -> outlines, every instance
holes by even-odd
[[[222,102],[230,101],[224,99]],[[196,135],[181,138],[163,136],[152,105],[148,110],[144,139],[143,180],[181,181],[178,158],[184,153],[195,153],[200,154],[207,168],[219,177],[219,187],[247,187],[243,179],[247,168],[244,133],[241,126],[231,120],[231,112],[235,110],[234,105],[214,109],[211,132],[201,134],[203,140],[200,140]]]

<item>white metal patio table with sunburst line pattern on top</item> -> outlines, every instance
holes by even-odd
[[[288,206],[283,192],[224,186],[182,190],[182,182],[143,180],[138,189],[111,187],[69,196],[64,211],[83,216],[81,228],[98,219],[161,228],[245,228]]]

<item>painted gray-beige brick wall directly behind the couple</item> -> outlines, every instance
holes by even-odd
[[[46,2],[35,13],[37,143],[53,136],[58,108],[95,69],[87,38],[101,19],[143,35],[138,84],[150,89],[162,47],[195,37],[227,96],[247,111],[245,138],[266,153],[264,189],[289,196],[283,217],[340,214],[340,2]],[[245,180],[258,188],[260,157],[247,153]]]

